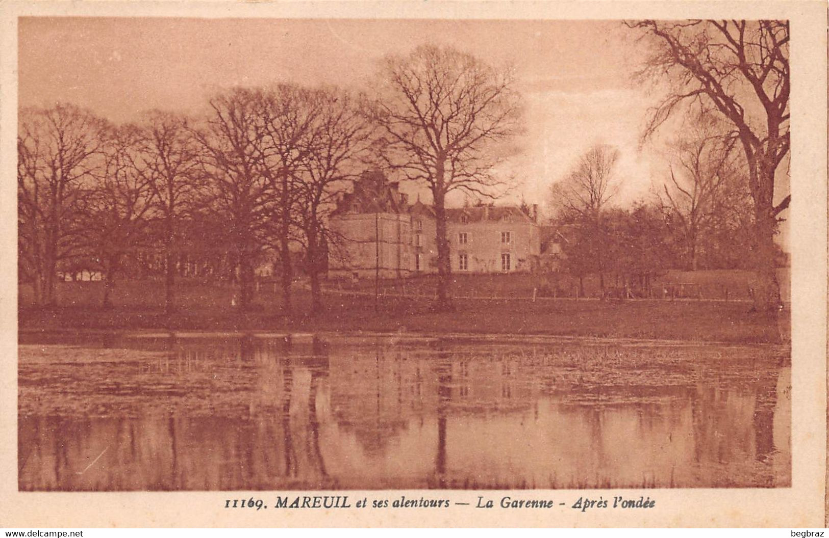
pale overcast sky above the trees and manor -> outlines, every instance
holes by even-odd
[[[451,45],[518,70],[527,132],[511,199],[543,209],[550,184],[596,142],[621,151],[617,204],[667,176],[660,141],[638,147],[655,97],[631,82],[643,50],[621,22],[43,17],[21,19],[19,32],[23,106],[69,101],[115,122],[150,108],[197,113],[237,84],[364,88],[385,54]]]

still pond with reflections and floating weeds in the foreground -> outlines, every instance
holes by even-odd
[[[334,334],[22,334],[21,490],[775,488],[790,352]]]

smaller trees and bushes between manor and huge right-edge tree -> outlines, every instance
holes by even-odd
[[[754,212],[734,137],[710,114],[691,116],[667,143],[667,172],[647,199],[620,209],[618,150],[597,145],[550,190],[564,224],[565,270],[633,277],[647,286],[669,268],[751,269]],[[778,251],[775,251],[777,254]]]

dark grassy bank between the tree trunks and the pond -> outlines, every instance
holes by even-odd
[[[776,317],[738,302],[669,300],[482,300],[456,301],[453,313],[429,311],[424,297],[326,294],[325,310],[308,313],[308,292],[298,290],[292,315],[279,310],[279,294],[260,290],[255,307],[230,306],[233,290],[180,286],[177,313],[165,315],[162,290],[148,283],[119,285],[111,310],[99,307],[98,282],[61,284],[61,306],[26,305],[22,331],[84,329],[370,331],[479,334],[555,334],[606,338],[778,343],[788,337],[788,311]],[[781,337],[783,334],[783,337]]]

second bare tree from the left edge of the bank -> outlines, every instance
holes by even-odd
[[[153,187],[134,166],[141,142],[138,128],[113,127],[105,136],[103,165],[95,171],[95,185],[85,200],[81,220],[86,252],[97,262],[104,281],[102,306],[109,308],[125,258],[149,246]]]

